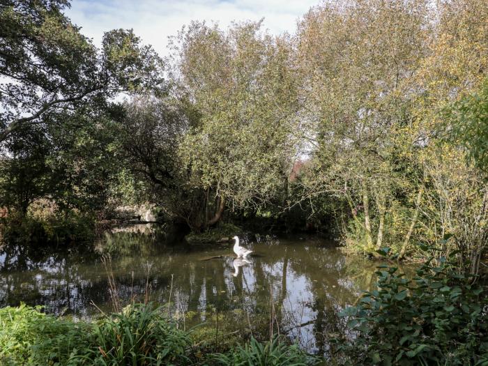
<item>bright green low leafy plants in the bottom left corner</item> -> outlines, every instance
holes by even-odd
[[[89,344],[91,326],[56,319],[40,307],[0,309],[0,365],[66,365]]]

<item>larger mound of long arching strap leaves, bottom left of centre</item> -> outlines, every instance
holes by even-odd
[[[82,365],[181,365],[190,337],[148,304],[125,307],[95,327],[93,344],[72,361]]]

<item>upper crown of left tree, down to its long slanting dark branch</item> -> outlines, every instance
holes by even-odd
[[[66,0],[0,5],[0,142],[51,113],[103,107],[121,91],[161,90],[162,62],[132,30],[105,33],[102,49],[63,15]]]

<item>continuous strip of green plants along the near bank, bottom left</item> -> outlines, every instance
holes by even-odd
[[[98,321],[72,321],[39,307],[0,310],[0,365],[316,365],[284,339],[208,349],[205,333],[178,328],[162,307],[135,304]],[[217,352],[219,351],[219,352]]]

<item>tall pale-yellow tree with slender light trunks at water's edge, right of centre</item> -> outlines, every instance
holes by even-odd
[[[418,189],[403,167],[419,148],[409,106],[425,54],[425,8],[416,0],[324,3],[298,27],[303,135],[312,146],[304,182],[310,195],[346,199],[367,252],[393,227],[406,233],[402,206]]]

